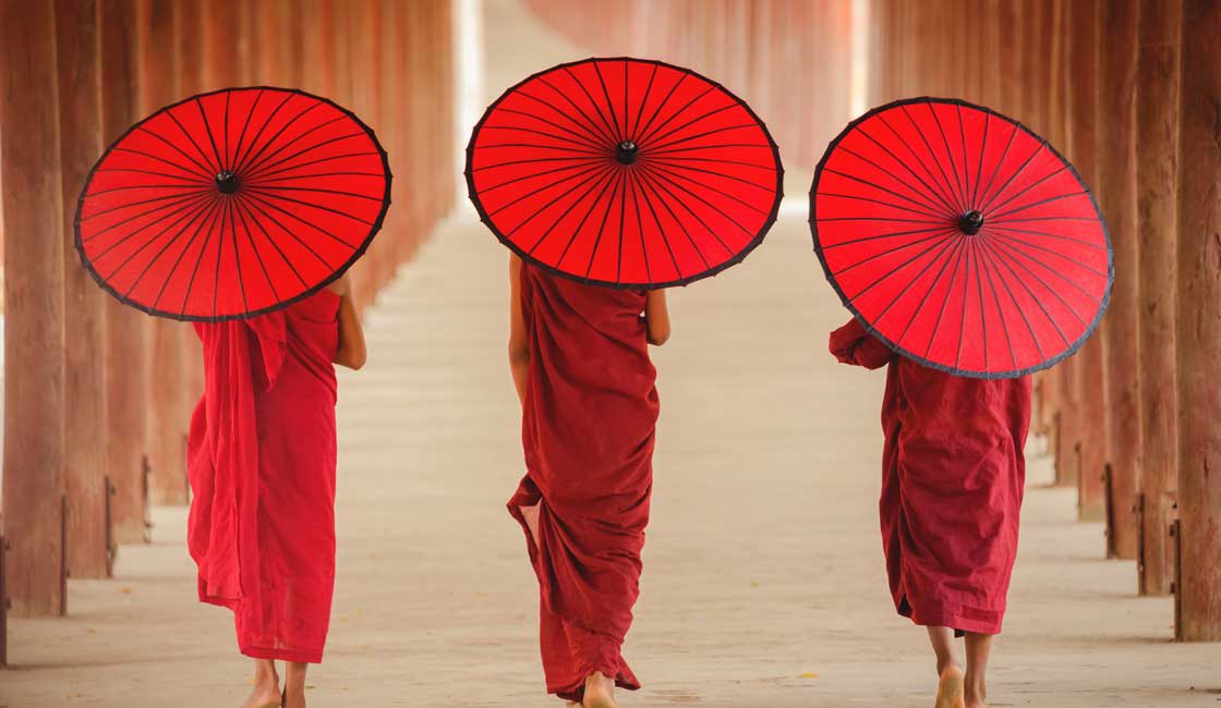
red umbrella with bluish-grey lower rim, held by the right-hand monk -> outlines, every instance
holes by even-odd
[[[1106,310],[1111,245],[1055,148],[960,100],[874,109],[832,142],[810,192],[814,250],[895,352],[977,378],[1076,352]]]

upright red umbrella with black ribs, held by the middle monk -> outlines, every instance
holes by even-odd
[[[623,288],[686,284],[746,258],[784,170],[741,99],[661,61],[587,59],[496,100],[466,148],[480,217],[557,275]]]

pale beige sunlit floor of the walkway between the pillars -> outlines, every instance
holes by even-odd
[[[488,93],[575,51],[507,4],[487,11]],[[895,616],[883,576],[883,376],[827,354],[847,315],[803,220],[672,295],[626,646],[645,688],[624,708],[932,704],[924,634]],[[366,370],[341,377],[338,583],[311,706],[558,704],[503,507],[521,474],[505,264],[477,222],[442,227],[370,314]],[[1133,565],[1101,560],[1101,527],[1074,520],[1074,492],[1045,487],[1032,457],[995,704],[1221,706],[1221,645],[1171,643],[1171,601],[1134,597]],[[186,513],[155,521],[114,580],[70,583],[71,618],[13,623],[0,707],[241,704],[249,662],[228,613],[194,601]]]

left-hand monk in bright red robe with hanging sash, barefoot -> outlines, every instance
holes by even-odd
[[[347,276],[283,310],[195,323],[204,397],[190,420],[187,529],[199,599],[233,610],[254,658],[244,708],[302,708],[335,587],[335,366],[365,341]],[[286,663],[283,691],[275,660]]]

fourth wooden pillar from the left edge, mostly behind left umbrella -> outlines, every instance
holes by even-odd
[[[147,116],[179,98],[175,90],[175,12],[172,0],[140,0],[139,5],[139,114]],[[148,417],[145,439],[149,488],[155,504],[187,502],[187,464],[183,448],[186,396],[182,322],[165,317],[149,321]]]

